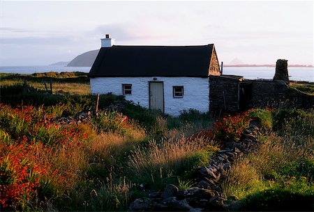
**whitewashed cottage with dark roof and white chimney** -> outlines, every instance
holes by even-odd
[[[214,44],[118,46],[106,35],[91,67],[91,93],[124,95],[170,115],[209,111],[209,75],[220,75]]]

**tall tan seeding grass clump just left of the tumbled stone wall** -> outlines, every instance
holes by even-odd
[[[190,177],[198,165],[208,163],[209,153],[204,151],[204,145],[201,139],[165,138],[160,144],[152,140],[148,147],[138,148],[129,156],[130,174],[139,183],[155,184],[160,189],[170,177]]]

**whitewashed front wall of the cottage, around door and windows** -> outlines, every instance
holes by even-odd
[[[123,95],[122,84],[132,84],[132,95],[127,100],[149,108],[149,81],[154,77],[98,77],[91,78],[91,93]],[[200,77],[159,77],[163,81],[165,113],[180,115],[180,111],[194,108],[203,113],[209,111],[209,79]],[[172,86],[184,86],[184,97],[173,98]]]

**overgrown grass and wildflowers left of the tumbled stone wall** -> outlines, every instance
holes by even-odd
[[[58,117],[94,110],[96,97],[82,95],[82,91],[47,95],[43,87],[36,87],[36,77],[29,80],[35,86],[29,86],[31,92],[23,92],[22,83],[13,84],[16,80],[10,77],[1,79],[5,81],[1,102],[6,104],[0,108],[0,151],[8,157],[0,158],[0,172],[10,167],[3,175],[8,179],[1,177],[1,186],[6,185],[1,194],[7,195],[1,196],[0,204],[6,210],[126,210],[148,190],[161,190],[168,183],[189,186],[197,165],[209,160],[211,152],[205,148],[209,140],[188,138],[213,123],[209,115],[193,111],[199,115],[197,120],[187,119],[193,117],[189,112],[184,113],[185,118],[174,118],[129,103],[125,108],[128,117],[100,111],[89,123],[60,125],[54,122]],[[123,98],[100,95],[100,108],[118,99]],[[8,147],[16,154],[27,154],[13,157]],[[28,163],[12,165],[24,161],[24,156],[29,156]],[[26,176],[34,172],[38,174],[33,187],[24,190],[21,186],[30,180]],[[7,189],[20,192],[14,196]]]

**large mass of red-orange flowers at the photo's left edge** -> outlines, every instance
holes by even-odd
[[[49,174],[47,169],[51,173],[54,168],[41,159],[55,147],[76,148],[91,136],[88,124],[61,126],[53,122],[53,117],[56,115],[43,108],[0,104],[1,131],[5,135],[0,134],[0,208],[22,209],[36,196],[40,181]],[[57,168],[52,173],[61,184],[67,184],[70,174]]]

